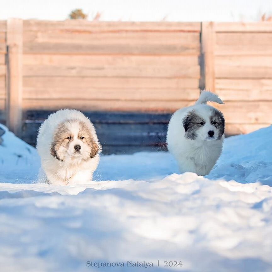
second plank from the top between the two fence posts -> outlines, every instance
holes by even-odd
[[[184,45],[197,48],[200,34],[196,32],[79,32],[62,31],[24,31],[24,45],[29,43],[57,43],[57,44],[92,44],[92,45],[122,45],[122,44],[155,45]]]

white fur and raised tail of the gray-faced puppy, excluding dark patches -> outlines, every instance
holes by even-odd
[[[224,135],[221,139],[216,140],[218,130],[209,122],[210,113],[214,108],[206,105],[207,101],[224,104],[217,95],[202,91],[195,105],[177,110],[169,122],[167,131],[168,150],[177,160],[180,173],[193,172],[198,175],[207,175],[222,152]],[[194,140],[184,137],[183,120],[191,110],[194,110],[206,122],[197,131],[197,138]],[[213,130],[215,133],[212,140],[207,138],[209,130]]]

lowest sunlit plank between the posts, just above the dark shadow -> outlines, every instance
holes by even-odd
[[[100,111],[154,111],[173,112],[193,105],[195,101],[120,101],[120,100],[80,100],[80,99],[23,99],[23,110],[78,110]]]

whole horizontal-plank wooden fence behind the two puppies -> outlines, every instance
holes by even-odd
[[[218,93],[227,133],[272,122],[272,22],[0,21],[0,120],[35,144],[59,108],[84,111],[106,153],[165,146],[171,113]]]

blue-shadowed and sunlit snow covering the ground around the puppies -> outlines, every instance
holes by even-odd
[[[226,139],[206,177],[140,152],[102,156],[74,187],[38,184],[35,149],[1,127],[1,271],[272,271],[272,126]]]

